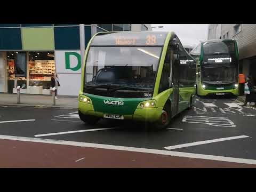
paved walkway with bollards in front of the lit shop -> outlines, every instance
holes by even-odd
[[[0,93],[0,105],[32,106],[53,108],[78,108],[77,97],[58,96],[55,105],[52,105],[52,95],[21,94],[20,103],[17,103],[17,94]]]

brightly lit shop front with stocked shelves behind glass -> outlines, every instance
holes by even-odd
[[[23,94],[51,94],[51,76],[55,73],[53,51],[6,51],[4,55],[7,90],[2,92],[17,93],[15,87],[19,85]],[[20,66],[25,67],[18,71]]]

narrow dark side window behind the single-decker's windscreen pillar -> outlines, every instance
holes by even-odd
[[[167,51],[166,51],[166,55],[165,55],[164,66],[163,66],[163,70],[162,70],[162,75],[161,75],[161,80],[160,80],[160,84],[159,84],[158,93],[161,93],[161,92],[169,89],[169,87],[170,87],[170,85],[169,85],[170,70],[171,70],[170,58],[171,58],[171,47],[168,46]]]

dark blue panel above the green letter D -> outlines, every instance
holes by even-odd
[[[79,27],[54,27],[55,50],[79,50]]]

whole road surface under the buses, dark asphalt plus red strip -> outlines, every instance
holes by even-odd
[[[256,167],[256,108],[241,105],[197,98],[162,131],[90,126],[74,109],[0,106],[0,167]]]

